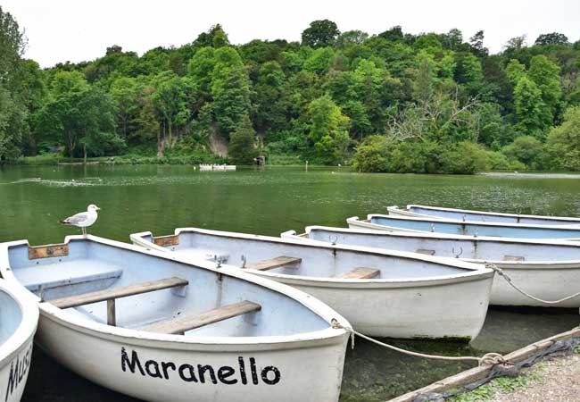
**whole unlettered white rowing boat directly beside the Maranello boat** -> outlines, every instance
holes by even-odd
[[[378,337],[473,339],[493,282],[493,271],[482,265],[448,258],[227,231],[177,229],[158,238],[143,232],[131,241],[294,286],[335,308],[355,330]]]

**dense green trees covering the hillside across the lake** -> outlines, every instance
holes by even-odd
[[[0,159],[256,155],[368,172],[580,170],[580,42],[559,32],[378,35],[312,21],[302,42],[232,45],[220,24],[142,55],[40,70],[0,9]],[[468,39],[465,39],[465,38]],[[278,158],[279,159],[279,158]]]

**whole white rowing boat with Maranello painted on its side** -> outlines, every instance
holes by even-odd
[[[0,272],[40,302],[37,345],[106,388],[157,402],[338,400],[348,332],[332,319],[343,317],[274,281],[175,257],[70,236],[0,245]]]

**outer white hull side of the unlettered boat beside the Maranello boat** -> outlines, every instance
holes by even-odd
[[[332,306],[353,328],[369,336],[475,339],[485,322],[493,274],[468,281],[388,286],[273,279]]]

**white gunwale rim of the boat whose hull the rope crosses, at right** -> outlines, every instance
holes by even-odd
[[[419,239],[432,239],[432,240],[458,240],[458,241],[480,241],[483,240],[484,242],[500,242],[506,244],[517,244],[517,245],[526,245],[526,244],[533,244],[534,246],[559,246],[559,247],[577,247],[578,252],[580,254],[580,243],[576,243],[574,241],[564,240],[564,239],[548,239],[548,240],[541,240],[541,239],[530,239],[533,241],[527,241],[527,239],[518,239],[518,238],[494,238],[492,236],[465,236],[465,235],[451,235],[451,234],[437,234],[432,232],[409,232],[409,231],[387,231],[387,230],[367,230],[367,229],[349,229],[349,228],[334,228],[331,226],[321,226],[321,225],[311,225],[306,226],[304,229],[304,233],[297,234],[295,230],[287,230],[284,233],[281,233],[280,236],[294,236],[300,237],[300,239],[309,239],[310,241],[319,241],[321,243],[328,243],[324,240],[318,239],[310,239],[311,230],[328,230],[328,231],[335,231],[340,233],[354,233],[354,234],[364,234],[370,236],[392,236],[392,237],[399,237],[399,238],[419,238]],[[292,238],[286,238],[292,239]],[[341,243],[338,243],[341,244]],[[371,248],[380,248],[385,250],[390,250],[387,247],[371,247]],[[411,252],[412,253],[412,252]],[[442,257],[442,258],[454,258],[454,257]],[[460,258],[462,261],[466,261],[472,264],[495,264],[500,268],[506,269],[518,269],[518,268],[526,268],[526,269],[561,269],[561,270],[573,270],[580,268],[580,259],[577,260],[553,260],[553,261],[535,261],[535,260],[528,260],[524,262],[509,262],[503,260],[491,260],[491,259],[483,259],[483,258]]]

